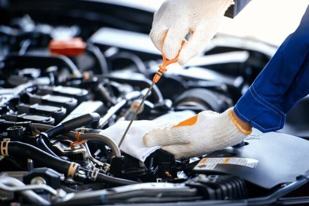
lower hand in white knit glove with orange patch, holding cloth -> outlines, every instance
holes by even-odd
[[[146,146],[161,149],[181,157],[196,157],[243,141],[251,130],[244,130],[234,119],[232,110],[222,114],[204,111],[177,125],[154,129],[143,137]]]

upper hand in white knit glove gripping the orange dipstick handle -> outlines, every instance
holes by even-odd
[[[163,48],[167,59],[173,59],[190,32],[191,37],[178,57],[178,62],[184,65],[214,37],[231,4],[233,0],[167,0],[154,14],[150,38],[157,49]]]

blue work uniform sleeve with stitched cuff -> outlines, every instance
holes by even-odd
[[[309,93],[309,7],[234,111],[262,132],[282,129],[286,114]]]

